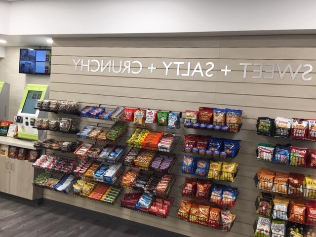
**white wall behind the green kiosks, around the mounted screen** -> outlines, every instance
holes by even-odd
[[[26,84],[49,84],[50,76],[19,73],[20,47],[5,47],[0,59],[0,81],[10,83],[9,120],[17,114]]]

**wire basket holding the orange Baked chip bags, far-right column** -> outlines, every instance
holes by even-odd
[[[254,177],[254,181],[258,190],[284,195],[287,195],[288,192],[290,192],[290,194],[288,194],[289,196],[316,199],[316,189],[308,189],[306,187],[291,187],[288,183],[277,184],[275,182],[259,180],[257,174]],[[280,190],[284,192],[277,192]]]

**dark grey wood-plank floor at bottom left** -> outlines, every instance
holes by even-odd
[[[141,230],[49,206],[0,197],[0,237],[155,237]]]

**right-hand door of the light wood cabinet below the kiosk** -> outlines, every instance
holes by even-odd
[[[34,187],[35,171],[32,162],[27,160],[11,160],[10,194],[34,200],[42,197],[42,190]]]

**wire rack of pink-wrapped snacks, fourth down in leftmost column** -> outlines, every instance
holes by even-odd
[[[47,168],[46,166],[40,166],[38,162],[42,158],[40,157],[35,163],[32,164],[34,168],[42,169],[42,170],[45,170],[47,172],[52,172],[52,173],[71,174],[74,171],[77,164],[79,163],[78,158],[63,157],[63,156],[59,156],[59,155],[57,156],[53,154],[46,154],[43,156],[49,156],[49,157],[54,156],[55,158],[57,158],[57,162],[55,162],[54,164],[51,164],[50,168]],[[65,160],[67,160],[68,163],[65,163]],[[65,169],[66,166],[67,166],[67,169]]]

